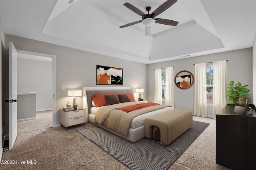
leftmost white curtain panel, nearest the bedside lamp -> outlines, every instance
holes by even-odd
[[[162,104],[162,69],[155,69],[155,103]]]

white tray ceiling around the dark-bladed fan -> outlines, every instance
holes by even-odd
[[[119,26],[142,18],[165,0],[0,0],[7,34],[150,64],[252,47],[256,0],[178,0],[158,15],[177,26]],[[189,56],[187,56],[189,55]],[[185,57],[186,56],[186,57]]]

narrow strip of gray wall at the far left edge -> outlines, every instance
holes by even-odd
[[[1,72],[1,83],[0,83],[0,89],[1,89],[1,93],[0,93],[0,110],[1,110],[1,116],[0,116],[0,127],[1,127],[1,139],[0,139],[0,158],[2,158],[2,139],[3,139],[3,128],[4,128],[4,45],[5,45],[5,41],[4,41],[4,25],[2,22],[2,16],[0,13],[0,41],[1,41],[1,48],[0,48],[0,55],[1,55],[1,59],[0,59],[0,72]]]

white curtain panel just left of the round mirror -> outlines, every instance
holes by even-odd
[[[166,96],[165,104],[174,107],[174,76],[173,76],[173,67],[165,68],[165,77],[166,77]]]

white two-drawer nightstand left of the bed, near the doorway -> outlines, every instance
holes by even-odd
[[[69,126],[87,123],[87,116],[84,107],[77,107],[76,110],[64,111],[60,109],[60,124],[66,129]]]

